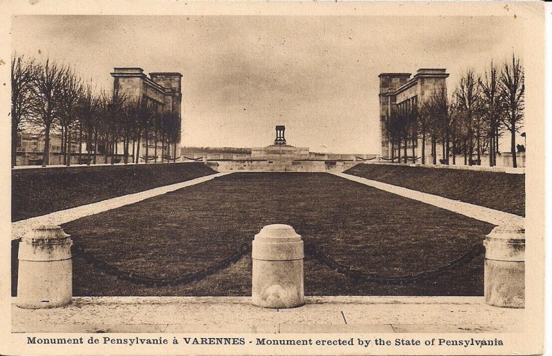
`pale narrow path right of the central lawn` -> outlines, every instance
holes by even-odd
[[[503,212],[500,210],[485,208],[484,206],[464,203],[463,201],[448,199],[440,197],[438,195],[418,192],[417,190],[402,188],[400,186],[393,186],[391,184],[382,183],[381,181],[373,181],[371,179],[357,177],[355,175],[348,175],[346,173],[331,174],[337,175],[337,177],[348,179],[350,181],[356,181],[357,183],[364,184],[366,186],[385,190],[386,192],[391,192],[402,197],[421,201],[422,203],[426,204],[431,204],[433,206],[437,206],[438,208],[451,210],[453,212],[457,212],[458,214],[465,215],[466,217],[471,217],[480,221],[486,221],[489,224],[515,224],[518,226],[524,226],[525,224],[524,217],[520,217],[519,215],[514,215],[509,212]]]

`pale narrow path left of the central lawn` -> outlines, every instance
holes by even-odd
[[[73,221],[81,217],[94,215],[99,212],[104,212],[106,210],[120,208],[121,206],[126,206],[128,204],[134,204],[144,199],[156,197],[157,195],[166,194],[168,192],[172,192],[174,190],[178,190],[181,188],[194,186],[195,184],[204,183],[205,181],[210,181],[215,177],[221,177],[223,175],[228,175],[228,174],[229,172],[217,173],[215,175],[208,175],[205,177],[190,179],[189,181],[183,181],[177,184],[170,184],[168,186],[162,186],[162,187],[153,188],[150,190],[144,190],[143,192],[123,195],[122,197],[115,197],[111,199],[98,201],[97,203],[77,206],[76,208],[50,212],[50,214],[41,215],[39,217],[31,217],[30,219],[16,221],[12,223],[12,239],[18,239],[19,237],[23,237],[31,233],[32,228],[34,228],[35,226],[39,226],[42,224],[54,224],[54,225],[65,224],[69,221]]]

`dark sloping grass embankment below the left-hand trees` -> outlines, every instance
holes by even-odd
[[[213,173],[202,163],[12,170],[12,221]]]

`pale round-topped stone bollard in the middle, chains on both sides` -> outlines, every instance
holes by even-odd
[[[305,304],[304,248],[289,225],[267,225],[253,240],[253,304],[295,308]]]

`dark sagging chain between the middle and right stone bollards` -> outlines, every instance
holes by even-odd
[[[440,275],[450,273],[453,269],[466,266],[466,264],[469,264],[471,261],[473,261],[475,257],[483,255],[485,253],[485,248],[482,244],[475,244],[471,247],[470,250],[464,253],[464,255],[458,257],[457,259],[453,259],[448,264],[444,264],[443,266],[440,266],[433,270],[426,270],[424,272],[416,274],[396,276],[382,276],[378,275],[377,273],[365,273],[361,270],[353,269],[351,266],[340,264],[331,257],[328,257],[327,255],[324,255],[323,253],[318,251],[313,244],[306,244],[305,253],[307,255],[311,255],[311,257],[313,257],[320,263],[325,264],[332,270],[335,270],[335,272],[341,273],[342,275],[346,275],[356,280],[374,281],[380,284],[403,284],[405,282],[417,282],[423,281],[425,279],[439,277]]]

